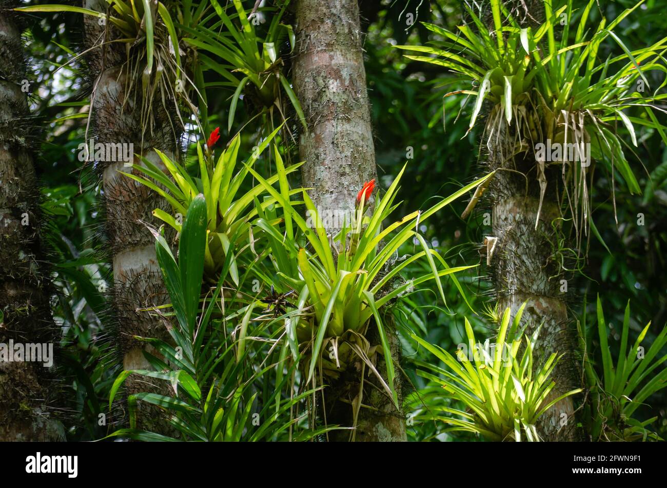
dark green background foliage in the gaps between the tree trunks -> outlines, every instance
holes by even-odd
[[[28,4],[44,3],[47,2],[30,1]],[[253,153],[253,148],[265,141],[287,119],[284,127],[289,132],[281,131],[275,136],[271,150],[267,149],[258,155],[253,171],[270,178],[276,174],[278,159],[284,159],[285,166],[298,162],[295,138],[291,135],[300,130],[301,109],[295,103],[287,83],[291,70],[291,48],[290,31],[284,27],[293,21],[293,14],[290,9],[285,9],[279,25],[273,23],[271,16],[275,15],[275,8],[281,8],[282,3],[267,3],[271,4],[270,7],[259,11],[264,21],[253,26],[252,42],[245,45],[247,49],[243,55],[252,58],[257,51],[261,63],[257,62],[261,66],[253,69],[257,72],[275,70],[279,73],[281,83],[271,85],[261,93],[244,91],[247,80],[241,81],[239,72],[229,74],[231,69],[237,67],[233,61],[239,63],[238,67],[243,67],[243,59],[227,59],[225,63],[231,65],[227,68],[221,68],[221,63],[216,64],[213,59],[203,63],[205,69],[200,67],[195,84],[205,95],[207,103],[207,109],[201,113],[205,135],[195,123],[186,125],[183,137],[186,154],[181,161],[182,167],[178,169],[198,178],[199,183],[202,175],[200,170],[204,165],[198,161],[197,142],[203,145],[206,135],[217,126],[220,127],[222,137],[218,147],[213,149],[213,160],[217,160],[225,146],[243,128],[232,144],[238,145],[239,155],[243,155],[243,161],[247,161],[246,155]],[[246,13],[251,11],[253,4],[253,1],[242,2]],[[644,2],[638,9],[638,15],[632,15],[616,27],[618,37],[633,47],[658,41],[667,32],[667,16],[660,4],[657,0]],[[240,5],[240,1],[234,2],[234,7]],[[578,8],[584,5],[586,2],[574,2]],[[602,16],[613,19],[632,6],[634,1],[631,0],[601,1],[591,9],[589,22],[597,25]],[[469,22],[470,19],[462,8],[462,2],[448,0],[410,0],[406,5],[394,0],[360,1],[360,9],[362,27],[366,33],[365,62],[372,105],[378,186],[382,188],[381,195],[384,194],[407,160],[400,194],[394,203],[399,204],[396,215],[408,215],[415,209],[432,207],[442,197],[452,195],[482,175],[478,164],[480,129],[474,127],[468,131],[472,103],[463,105],[460,97],[444,98],[446,93],[470,89],[468,81],[446,67],[406,59],[402,51],[394,49],[394,46],[426,45],[437,40],[436,33],[424,28],[421,21],[455,31],[457,25]],[[215,17],[215,10],[213,7],[207,9],[206,15]],[[227,11],[231,13],[231,8]],[[68,373],[66,381],[69,399],[75,405],[67,434],[71,440],[101,439],[115,430],[113,424],[100,426],[98,415],[109,411],[109,395],[118,386],[114,385],[114,381],[121,373],[121,366],[115,361],[113,341],[105,326],[110,269],[108,256],[103,252],[103,215],[98,207],[101,188],[92,175],[93,167],[81,167],[77,158],[77,147],[87,137],[87,96],[94,73],[87,71],[81,59],[72,61],[75,53],[81,51],[80,14],[33,13],[29,18],[31,23],[26,45],[35,77],[31,109],[35,121],[39,121],[44,128],[37,171],[43,184],[44,206],[49,213],[49,227],[52,229],[55,263],[53,281],[59,292],[54,317],[63,330],[63,366]],[[408,19],[414,22],[408,23]],[[227,21],[243,27],[235,18]],[[211,23],[213,29],[220,29],[225,20],[220,17],[219,21],[211,20]],[[211,25],[206,29],[210,30]],[[284,29],[282,34],[279,33],[281,29]],[[197,35],[205,37],[207,32],[202,28]],[[196,38],[194,32],[189,35]],[[233,43],[233,37],[225,36],[219,44],[225,45],[227,41]],[[276,51],[282,55],[281,63],[276,63],[267,54],[267,45],[263,42],[269,41],[275,41]],[[201,39],[197,42],[201,47]],[[212,53],[211,56],[225,54],[216,53],[216,49],[217,44],[207,49],[207,52]],[[606,59],[610,55],[622,53],[618,43],[604,43],[600,46],[598,58]],[[257,73],[241,73],[256,88],[262,86],[261,79],[255,81]],[[223,83],[220,83],[221,77]],[[650,81],[652,85],[656,81],[655,85],[658,86],[663,79],[664,76],[656,74]],[[198,101],[201,103],[202,99]],[[274,101],[277,101],[277,105],[271,105]],[[271,107],[279,110],[273,111]],[[659,116],[664,121],[664,113]],[[632,148],[632,153],[628,153],[627,159],[642,193],[631,195],[620,188],[617,182],[614,209],[610,178],[601,174],[595,180],[590,191],[592,215],[600,240],[590,239],[586,243],[588,252],[582,267],[584,272],[576,275],[574,283],[570,283],[570,313],[572,317],[580,317],[580,326],[590,353],[589,365],[597,368],[597,373],[592,369],[587,370],[588,379],[592,381],[589,387],[596,379],[606,381],[609,375],[607,363],[610,361],[607,355],[610,353],[612,358],[616,358],[620,354],[624,357],[628,335],[634,342],[642,333],[644,342],[650,345],[664,337],[662,331],[667,321],[667,283],[664,279],[667,275],[667,148],[656,129],[644,126],[635,126],[634,129],[638,144]],[[624,127],[618,130],[621,135],[627,136]],[[243,181],[239,195],[247,195],[246,192],[257,185],[258,179],[250,180],[249,177]],[[291,175],[289,183],[294,189],[300,182]],[[259,215],[267,205],[262,207],[265,201],[261,200],[259,192],[253,197],[248,204]],[[198,198],[191,200],[196,202]],[[301,197],[294,197],[297,198],[300,201]],[[209,201],[206,203],[211,204]],[[453,353],[459,343],[466,342],[468,323],[470,331],[479,337],[488,339],[495,335],[498,311],[494,311],[493,289],[486,276],[486,261],[480,254],[484,236],[490,233],[490,225],[485,219],[490,209],[479,205],[472,217],[464,220],[460,215],[465,207],[465,199],[458,199],[444,207],[428,221],[418,225],[418,231],[424,237],[423,243],[410,240],[399,250],[400,255],[413,254],[428,245],[450,267],[479,265],[457,273],[464,294],[449,281],[450,284],[444,287],[442,293],[436,282],[428,281],[419,285],[416,293],[402,297],[391,309],[404,354],[400,368],[411,383],[404,409],[408,417],[414,418],[414,421],[408,422],[408,435],[415,441],[480,439],[474,433],[448,431],[444,423],[427,420],[434,409],[444,407],[460,410],[464,409],[464,405],[456,397],[447,395],[434,381],[417,373],[420,365],[437,363],[424,347],[425,343]],[[190,206],[187,218],[195,210]],[[267,221],[271,221],[271,217],[277,218],[277,214],[273,215],[271,211],[273,209],[269,209],[268,215],[264,216]],[[638,225],[640,214],[644,216],[642,225]],[[604,245],[601,241],[604,241]],[[180,245],[183,246],[182,240]],[[298,247],[299,243],[295,245]],[[301,245],[305,245],[305,239]],[[163,243],[162,246],[163,251],[167,252],[169,245]],[[216,297],[224,293],[221,291],[223,277],[227,272],[231,273],[234,259],[233,253],[226,252],[219,253],[219,262],[215,263],[216,270],[223,269],[222,274],[216,274],[215,279],[203,289],[183,283],[183,315],[179,315],[176,306],[173,307],[181,332],[192,335],[197,321],[195,309],[202,305],[209,307],[210,332],[206,338],[210,349],[201,357],[191,357],[191,363],[180,369],[187,373],[177,373],[176,378],[173,377],[175,369],[169,369],[172,365],[159,365],[161,370],[169,369],[169,372],[157,379],[173,385],[177,399],[143,395],[141,400],[176,411],[175,426],[183,439],[305,440],[325,435],[326,429],[319,420],[313,419],[314,406],[299,407],[299,401],[308,405],[313,392],[306,387],[305,382],[299,385],[301,380],[295,381],[300,376],[295,365],[290,366],[288,361],[291,354],[289,347],[272,347],[281,333],[276,324],[281,322],[279,319],[289,319],[289,307],[282,314],[265,314],[271,316],[265,317],[263,321],[250,319],[251,314],[255,314],[254,319],[260,311],[259,306],[255,311],[253,304],[269,294],[271,285],[275,285],[278,293],[285,293],[289,289],[289,286],[276,278],[269,251],[261,245],[258,245],[256,251],[257,256],[253,259],[257,261],[257,269],[247,271],[248,261],[245,257],[239,257],[238,267],[243,269],[234,271],[239,275],[228,280],[239,287],[245,283],[244,289],[249,292],[227,301],[224,311],[219,309],[219,303],[215,305],[215,299],[210,295],[200,303],[199,293],[211,292]],[[163,258],[167,260],[169,256]],[[182,263],[178,261],[176,264],[174,261],[174,265],[171,271],[178,274],[178,266]],[[236,263],[233,267],[237,267]],[[410,279],[431,271],[428,261],[415,261],[404,269],[402,275]],[[252,288],[253,279],[261,281],[260,289]],[[209,285],[211,290],[207,289]],[[186,292],[184,286],[193,288]],[[169,289],[169,292],[173,303],[176,303],[173,289]],[[441,299],[442,295],[446,304]],[[605,333],[602,329],[598,333],[596,325],[599,322],[590,318],[602,313],[598,311],[594,299],[598,295],[604,305],[604,319],[608,324]],[[206,297],[206,294],[203,293],[203,296]],[[190,303],[185,303],[188,300]],[[290,300],[297,301],[298,297],[290,297]],[[630,315],[624,314],[628,301],[632,304]],[[647,323],[650,325],[644,328]],[[240,337],[245,346],[241,348],[234,343],[230,338],[232,335],[235,339]],[[420,337],[419,341],[414,338],[415,335]],[[203,337],[200,336],[199,340]],[[261,340],[245,341],[245,337]],[[178,344],[181,339],[183,337],[175,337],[175,343]],[[169,351],[171,347],[167,344],[159,345],[165,356],[174,356],[175,353]],[[442,366],[440,363],[438,365]],[[213,381],[212,377],[217,379]],[[209,390],[200,389],[201,385],[206,385]],[[207,393],[208,398],[204,397]],[[636,408],[634,418],[642,423],[651,417],[658,417],[650,428],[664,437],[667,435],[667,393],[664,390],[657,391],[646,403]],[[234,417],[230,412],[237,413]],[[273,423],[281,428],[271,427],[275,430],[253,433],[256,427],[251,423],[252,412],[259,412],[259,425]],[[634,427],[639,428],[636,425]],[[596,429],[604,430],[599,425]],[[121,434],[129,435],[126,431],[117,435]],[[157,439],[148,433],[131,435],[137,439]]]

